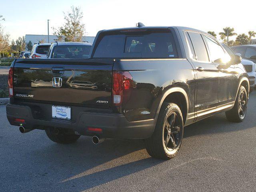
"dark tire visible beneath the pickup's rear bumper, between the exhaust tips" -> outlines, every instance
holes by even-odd
[[[53,128],[46,128],[45,132],[50,140],[61,144],[74,143],[80,138],[80,135],[70,134],[70,132],[67,133],[63,130],[54,130]]]

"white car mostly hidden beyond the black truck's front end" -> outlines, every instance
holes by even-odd
[[[225,50],[228,52],[228,54],[230,55],[234,55],[235,53],[225,44],[222,43],[222,46],[225,48]],[[238,53],[240,56],[241,54]],[[251,60],[248,59],[242,59],[241,62],[249,76],[249,80],[250,80],[250,92],[252,92],[253,88],[256,85],[256,64],[254,62],[252,62]]]

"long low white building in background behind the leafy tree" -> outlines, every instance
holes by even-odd
[[[92,36],[83,36],[82,41],[88,41],[89,43],[93,43],[95,37]],[[54,39],[57,39],[55,35],[49,35],[49,42],[55,42]],[[45,43],[48,43],[48,35],[25,35],[25,42],[28,44],[29,41],[34,45],[36,42],[43,40]]]

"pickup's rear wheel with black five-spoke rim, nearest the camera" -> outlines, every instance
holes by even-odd
[[[183,118],[178,105],[164,102],[154,133],[145,140],[148,154],[164,160],[176,156],[182,143],[183,130]]]

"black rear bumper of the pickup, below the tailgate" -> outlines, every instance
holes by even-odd
[[[155,128],[155,120],[129,122],[122,114],[100,113],[84,108],[76,116],[75,121],[62,119],[36,119],[32,115],[30,106],[8,104],[6,106],[7,118],[10,124],[19,126],[15,118],[24,119],[24,126],[28,128],[44,129],[45,127],[67,128],[79,132],[81,135],[102,136],[105,138],[138,139],[149,138]],[[90,132],[88,127],[101,128],[102,133]]]

